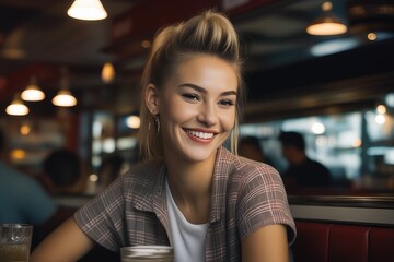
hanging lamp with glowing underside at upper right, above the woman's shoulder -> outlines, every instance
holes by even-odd
[[[306,27],[306,33],[310,35],[345,34],[347,32],[347,26],[331,12],[332,9],[332,2],[323,2],[323,13]]]

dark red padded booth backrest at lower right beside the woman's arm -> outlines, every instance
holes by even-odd
[[[296,221],[294,262],[394,261],[394,228]]]

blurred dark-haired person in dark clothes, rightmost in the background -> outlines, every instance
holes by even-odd
[[[305,141],[301,133],[281,132],[279,135],[283,157],[288,162],[281,174],[287,189],[327,188],[333,178],[329,170],[321,163],[308,157]]]

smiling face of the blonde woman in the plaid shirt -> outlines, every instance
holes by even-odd
[[[222,59],[198,56],[179,64],[158,99],[164,154],[215,157],[234,127],[236,92],[237,76]]]

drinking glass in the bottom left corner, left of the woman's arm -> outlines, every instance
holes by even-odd
[[[0,262],[28,262],[33,226],[0,224]]]

